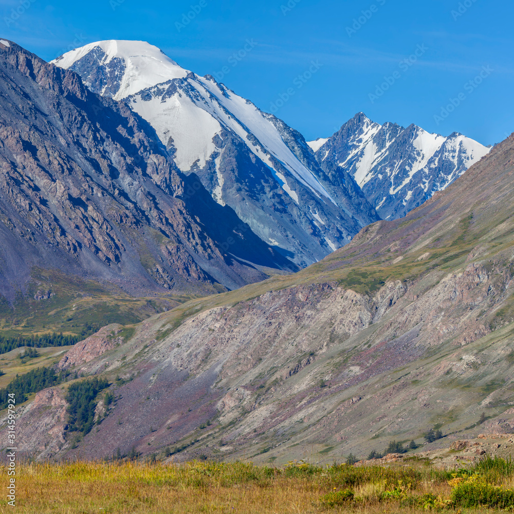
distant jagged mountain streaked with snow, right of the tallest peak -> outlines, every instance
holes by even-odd
[[[396,219],[447,188],[490,151],[462,134],[379,125],[358,113],[331,138],[308,143],[332,176],[350,173],[382,219]]]

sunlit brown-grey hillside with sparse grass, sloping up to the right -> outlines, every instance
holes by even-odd
[[[102,329],[59,368],[120,374],[120,399],[73,448],[64,393],[38,394],[17,422],[27,451],[332,462],[434,426],[446,437],[424,449],[514,432],[513,177],[514,135],[313,266]]]

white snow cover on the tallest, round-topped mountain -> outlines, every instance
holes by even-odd
[[[114,40],[90,43],[65,53],[52,63],[67,69],[96,47],[106,54],[100,65],[108,64],[114,58],[124,61],[125,71],[114,99],[130,97],[128,101],[134,111],[154,127],[162,143],[168,146],[173,143],[175,162],[180,170],[190,171],[195,163],[199,168],[204,167],[216,152],[213,138],[228,128],[241,137],[274,176],[284,175],[283,168],[273,162],[276,159],[316,196],[337,205],[313,172],[286,145],[271,116],[214,79],[190,74],[149,43]],[[187,86],[186,81],[181,81],[172,95],[163,98],[170,86],[169,81],[186,77]],[[151,95],[145,91],[149,88]],[[219,173],[218,180],[223,180]],[[292,182],[287,183],[287,177],[284,177],[281,187],[298,203],[298,194],[292,189]],[[221,183],[218,184],[218,192],[216,199],[223,203]]]

